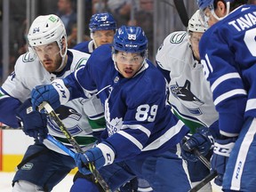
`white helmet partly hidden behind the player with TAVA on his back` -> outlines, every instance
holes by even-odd
[[[188,32],[192,31],[192,32],[200,32],[200,33],[204,33],[207,30],[207,27],[204,26],[202,20],[200,19],[200,11],[197,10],[192,17],[190,18],[190,20],[188,20]]]

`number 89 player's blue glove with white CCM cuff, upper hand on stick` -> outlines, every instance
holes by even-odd
[[[36,110],[43,101],[47,101],[53,109],[56,109],[60,104],[66,104],[69,97],[70,92],[61,79],[52,81],[52,84],[36,86],[31,92],[33,110]]]

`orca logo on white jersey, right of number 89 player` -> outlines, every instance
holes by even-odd
[[[194,115],[201,115],[200,106],[204,105],[202,100],[199,100],[196,95],[191,92],[190,82],[187,80],[183,86],[178,83],[170,86],[172,95],[180,100],[183,106],[188,108],[189,112]]]

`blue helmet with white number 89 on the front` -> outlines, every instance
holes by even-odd
[[[114,36],[114,50],[121,52],[146,52],[148,39],[140,27],[122,26]]]

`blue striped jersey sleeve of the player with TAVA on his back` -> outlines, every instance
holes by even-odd
[[[232,31],[229,28],[218,31],[221,24],[216,23],[204,33],[199,44],[200,57],[220,115],[220,133],[236,136],[244,124],[247,95],[236,66],[236,52],[230,49],[231,40],[227,37]]]

